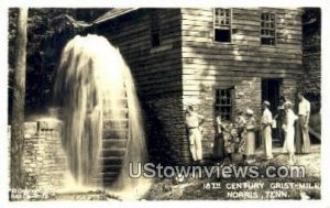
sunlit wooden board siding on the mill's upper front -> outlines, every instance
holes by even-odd
[[[276,12],[276,45],[261,45],[260,12]],[[299,10],[232,9],[232,42],[213,42],[213,9],[183,9],[184,95],[199,84],[232,86],[246,77],[295,78],[301,70]]]

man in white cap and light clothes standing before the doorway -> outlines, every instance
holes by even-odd
[[[273,152],[272,152],[272,123],[273,123],[273,118],[272,118],[272,112],[270,111],[270,106],[271,103],[265,100],[263,102],[263,114],[262,114],[262,138],[264,141],[264,150],[267,158],[273,158]]]

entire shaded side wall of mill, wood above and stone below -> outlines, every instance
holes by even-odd
[[[190,155],[184,125],[180,9],[156,10],[158,47],[151,45],[151,12],[139,9],[107,21],[97,33],[120,48],[132,70],[145,112],[150,160],[185,163]]]

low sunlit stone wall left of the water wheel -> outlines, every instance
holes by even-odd
[[[55,191],[64,186],[67,169],[57,120],[25,122],[23,169],[25,188]]]

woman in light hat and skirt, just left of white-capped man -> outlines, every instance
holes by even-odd
[[[246,110],[246,141],[245,141],[245,155],[246,161],[253,162],[255,154],[255,118],[253,117],[253,110]]]

